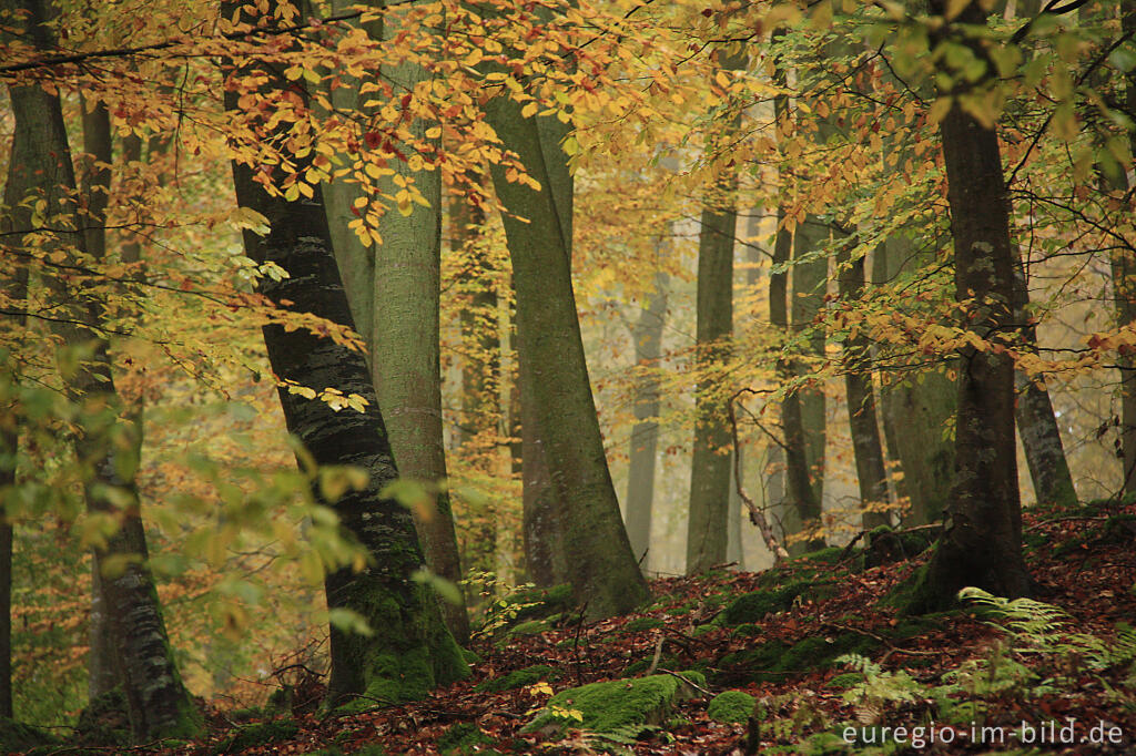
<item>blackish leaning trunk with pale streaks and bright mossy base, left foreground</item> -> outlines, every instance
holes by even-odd
[[[232,15],[236,9],[226,3],[224,12]],[[252,62],[231,76],[225,92],[231,111],[239,108],[245,79],[262,77],[264,91],[294,86],[277,68]],[[253,170],[254,166],[234,163],[237,202],[262,215],[269,230],[264,237],[245,230],[245,253],[289,272],[283,280],[262,282],[261,293],[282,309],[351,327],[319,187],[309,200],[289,202],[270,196],[253,180]],[[284,305],[285,301],[289,304]],[[318,397],[279,392],[289,431],[317,465],[353,465],[368,474],[362,489],[325,502],[370,557],[360,572],[344,568],[325,577],[327,605],[358,612],[374,631],[366,637],[332,625],[329,703],[345,703],[353,696],[396,703],[467,677],[468,666],[442,620],[436,597],[411,579],[425,560],[410,511],[382,496],[383,488],[398,478],[398,470],[362,354],[306,329],[286,331],[270,325],[264,336],[273,371],[282,381],[358,394],[367,402],[364,412],[335,412]]]

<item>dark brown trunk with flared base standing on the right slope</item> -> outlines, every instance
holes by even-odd
[[[942,0],[933,5],[942,14]],[[982,24],[978,6],[959,23]],[[999,338],[1013,320],[1013,247],[997,134],[954,103],[939,126],[960,302],[974,300],[971,328]],[[1009,598],[1030,590],[1021,554],[1021,505],[1013,436],[1013,363],[962,351],[955,421],[955,480],[947,522],[914,610],[953,603],[966,586]]]

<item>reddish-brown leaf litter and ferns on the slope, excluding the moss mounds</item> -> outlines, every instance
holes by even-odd
[[[1036,599],[1060,607],[1078,637],[1095,637],[1105,648],[1121,648],[1136,637],[1126,624],[1136,616],[1136,549],[1127,527],[1134,514],[1136,505],[1117,503],[1063,512],[1030,507],[1024,513]],[[840,733],[846,731],[842,728],[854,726],[861,733],[934,722],[962,733],[969,726],[962,717],[992,728],[1049,722],[1061,726],[1071,719],[1086,732],[1104,723],[1122,731],[1120,745],[1056,744],[1047,753],[1133,753],[1136,663],[1130,654],[1104,654],[1100,658],[1108,664],[1099,669],[1100,660],[1091,664],[1084,655],[1060,653],[1060,628],[1045,646],[1058,650],[1039,653],[1036,644],[1028,647],[1028,639],[1003,627],[1005,618],[1000,624],[980,606],[909,623],[883,599],[927,558],[922,554],[866,568],[862,561],[801,557],[763,573],[712,571],[654,580],[658,598],[637,614],[551,624],[543,632],[512,636],[504,642],[482,638],[474,644],[479,661],[469,680],[420,702],[352,715],[296,716],[289,721],[295,734],[250,744],[241,753],[346,756],[376,753],[378,747],[387,754],[438,754],[445,747],[452,751],[452,734],[448,739],[446,733],[462,724],[463,731],[479,733],[477,753],[528,754],[546,747],[546,753],[569,754],[602,746],[640,755],[851,754],[857,746],[842,741]],[[710,624],[743,595],[779,596],[786,586],[801,583],[821,583],[825,590],[796,594],[736,627]],[[683,641],[692,638],[699,642]],[[838,654],[826,655],[820,665],[810,662],[811,669],[793,667],[779,657],[779,669],[752,670],[749,679],[725,663],[763,647],[791,650],[809,639],[834,652],[852,649],[853,656],[840,661]],[[662,721],[628,742],[603,746],[583,731],[550,745],[546,734],[524,731],[553,694],[644,674],[660,640],[666,666],[701,672],[707,690],[715,695],[733,690],[751,696],[757,702],[754,716],[718,722],[708,712],[712,697],[699,692],[675,703]],[[587,648],[587,663],[576,664],[582,646]],[[549,673],[542,674],[545,670]],[[486,684],[496,680],[519,684]],[[896,681],[903,683],[902,690]],[[231,747],[249,726],[235,730],[222,717],[211,721],[217,729],[208,740],[132,753],[204,756],[218,745]],[[1017,744],[1005,748],[1011,745]],[[880,753],[903,750],[892,746]],[[35,753],[58,749],[45,746]],[[959,753],[958,741],[928,745],[920,753]]]

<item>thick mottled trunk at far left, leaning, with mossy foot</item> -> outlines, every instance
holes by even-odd
[[[49,26],[55,11],[50,5],[6,0],[0,8],[25,14],[20,16],[27,24],[25,36],[40,50],[55,50]],[[90,218],[78,215],[73,199],[75,170],[58,96],[34,84],[10,85],[9,95],[16,136],[6,198],[42,198],[49,208],[59,208],[64,213],[53,220],[57,227],[85,226]],[[25,207],[12,211],[11,222],[17,232],[15,246],[30,242],[18,238],[20,229],[32,227],[30,210]],[[84,235],[75,230],[60,230],[50,241],[41,238],[35,243],[51,244],[73,258],[87,253]],[[140,740],[191,733],[198,729],[197,713],[174,664],[153,578],[145,565],[134,482],[136,447],[115,442],[130,436],[132,429],[115,390],[109,345],[97,330],[102,303],[87,289],[70,289],[60,280],[47,283],[59,311],[66,313],[53,322],[57,335],[68,348],[90,354],[67,368],[64,379],[72,401],[82,405],[75,451],[84,470],[87,509],[120,522],[118,530],[97,548],[95,562],[111,618],[115,661],[131,728]],[[122,499],[130,504],[115,503]]]

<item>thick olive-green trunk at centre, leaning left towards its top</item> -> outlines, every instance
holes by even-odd
[[[587,616],[628,612],[649,591],[619,516],[584,359],[571,286],[571,177],[552,141],[562,129],[538,126],[504,96],[486,106],[486,117],[541,185],[511,183],[502,166],[492,168],[517,288],[521,397],[535,400],[535,431],[560,510],[561,538],[551,547],[562,549]]]

